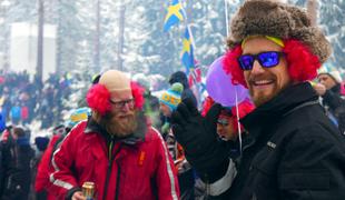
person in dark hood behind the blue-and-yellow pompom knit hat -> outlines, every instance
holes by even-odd
[[[195,94],[193,93],[193,91],[189,88],[188,79],[187,79],[186,73],[183,72],[183,71],[176,71],[175,73],[172,73],[170,76],[170,79],[169,79],[169,84],[172,86],[175,82],[179,82],[179,83],[184,84],[184,91],[181,93],[181,99],[186,99],[186,98],[191,99],[194,106],[197,107],[198,106],[198,101],[197,101],[197,98],[195,97]]]

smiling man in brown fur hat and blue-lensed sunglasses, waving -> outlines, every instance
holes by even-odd
[[[344,199],[345,141],[308,82],[331,53],[325,36],[304,10],[273,0],[245,1],[230,30],[224,69],[257,107],[240,120],[252,143],[228,176],[228,147],[216,140],[219,104],[206,120],[183,100],[172,131],[187,160],[223,199]]]

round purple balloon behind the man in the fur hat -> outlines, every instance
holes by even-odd
[[[249,99],[249,94],[241,84],[231,83],[231,74],[227,74],[223,69],[223,59],[224,57],[219,57],[210,64],[206,76],[206,90],[216,102],[224,107],[234,107],[236,106],[236,93],[237,103],[246,98]]]

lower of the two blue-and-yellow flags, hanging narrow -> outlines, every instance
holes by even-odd
[[[186,28],[184,40],[183,40],[184,49],[183,49],[183,64],[186,68],[187,74],[189,73],[190,69],[195,68],[194,62],[194,47],[191,43],[191,34],[189,29]]]

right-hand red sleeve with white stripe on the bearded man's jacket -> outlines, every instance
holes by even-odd
[[[177,180],[177,171],[174,167],[172,159],[168,152],[166,143],[157,130],[154,131],[154,140],[156,146],[156,186],[158,186],[158,199],[177,200],[179,199],[179,187]]]

